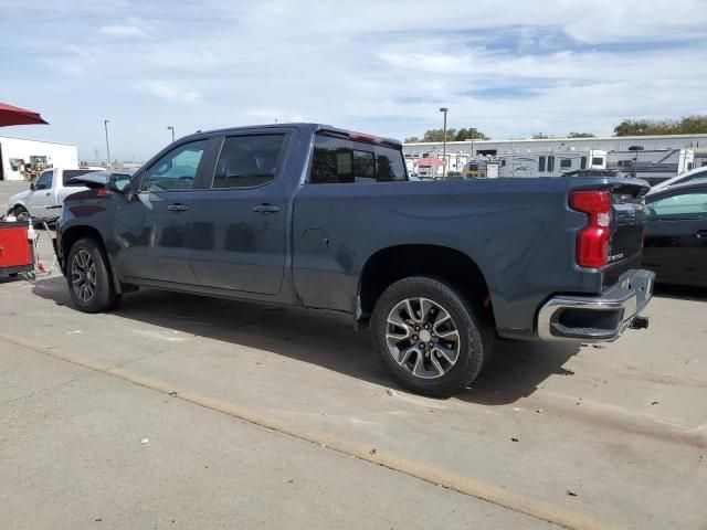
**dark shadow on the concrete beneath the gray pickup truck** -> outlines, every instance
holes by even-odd
[[[72,307],[63,277],[38,280],[33,293]],[[373,352],[369,331],[355,331],[350,317],[342,315],[156,289],[124,296],[113,315],[270,351],[382,386],[393,384]],[[485,405],[513,403],[551,375],[572,375],[562,367],[578,351],[579,344],[498,340],[484,373],[456,398]]]

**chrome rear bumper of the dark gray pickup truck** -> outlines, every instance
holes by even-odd
[[[626,327],[647,327],[637,318],[653,295],[655,273],[624,272],[613,287],[600,296],[556,296],[538,311],[541,340],[616,340]]]

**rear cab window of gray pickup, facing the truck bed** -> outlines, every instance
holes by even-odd
[[[398,149],[317,135],[309,182],[392,182],[408,180]]]

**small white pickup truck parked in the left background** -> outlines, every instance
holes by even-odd
[[[70,183],[70,180],[103,169],[98,167],[50,168],[30,184],[29,190],[10,198],[8,213],[14,214],[19,220],[29,218],[54,220],[61,215],[66,197],[87,189],[82,183]]]

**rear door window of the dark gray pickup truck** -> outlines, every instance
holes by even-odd
[[[212,188],[255,188],[277,177],[285,135],[231,136],[223,141]]]

